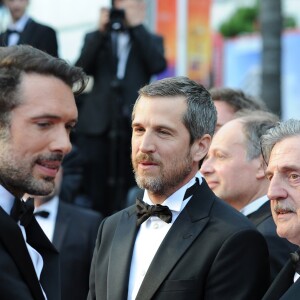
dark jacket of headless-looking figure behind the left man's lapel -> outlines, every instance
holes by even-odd
[[[53,244],[60,254],[62,300],[85,300],[97,231],[102,217],[60,202]]]

